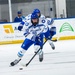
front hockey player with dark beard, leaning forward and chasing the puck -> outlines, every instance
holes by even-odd
[[[24,23],[24,24],[23,24]],[[34,44],[35,52],[39,51],[39,61],[41,62],[43,60],[43,31],[45,26],[43,24],[39,24],[39,18],[38,15],[35,13],[32,13],[31,20],[28,20],[27,22],[23,22],[18,26],[18,30],[24,30],[24,36],[26,37],[23,44],[21,45],[21,50],[17,54],[17,59],[15,59],[13,62],[10,63],[11,66],[16,65],[19,63],[19,61],[24,56],[25,52],[28,50],[28,48]]]

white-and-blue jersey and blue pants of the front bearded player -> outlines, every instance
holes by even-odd
[[[32,25],[31,20],[27,20],[20,23],[18,29],[23,30],[24,35],[27,35],[21,46],[23,49],[28,50],[32,44],[39,45],[40,47],[43,46],[43,31],[45,29],[43,23],[34,26]]]

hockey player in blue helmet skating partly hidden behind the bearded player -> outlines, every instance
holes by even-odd
[[[45,21],[47,21],[45,25],[47,25],[46,27],[48,30],[46,33],[44,33],[44,35],[45,35],[45,39],[48,40],[49,44],[51,45],[52,49],[54,50],[55,46],[54,46],[53,42],[51,41],[52,37],[56,34],[56,27],[52,25],[54,23],[54,19],[45,18],[45,16],[41,14],[39,9],[34,9],[33,12],[37,13],[37,15],[39,16],[39,20],[42,20],[42,23],[45,23]]]

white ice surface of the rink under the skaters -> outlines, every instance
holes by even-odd
[[[22,61],[14,67],[9,67],[21,44],[0,45],[0,75],[75,75],[75,40],[54,42],[56,49],[52,50],[49,43],[44,45],[44,60],[39,62],[38,55],[27,66],[34,54],[33,46],[25,53]],[[19,70],[19,68],[23,70]]]

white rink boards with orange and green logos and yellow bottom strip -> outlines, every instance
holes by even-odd
[[[23,32],[18,31],[19,23],[1,23],[0,24],[0,45],[22,43],[25,37]],[[53,40],[71,40],[75,39],[75,18],[55,19],[56,35]]]

